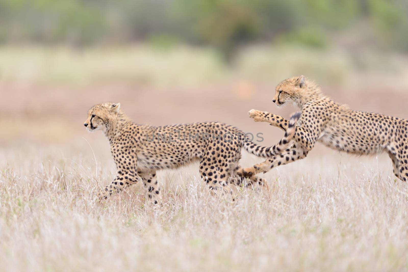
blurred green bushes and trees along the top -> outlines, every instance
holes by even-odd
[[[0,0],[0,42],[180,41],[229,57],[249,42],[324,47],[332,33],[354,30],[357,43],[407,50],[407,13],[403,0]]]

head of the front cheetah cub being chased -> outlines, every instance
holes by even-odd
[[[102,103],[91,107],[88,111],[88,118],[84,122],[84,126],[88,131],[96,131],[102,129],[106,132],[112,121],[116,120],[120,110],[120,103]]]

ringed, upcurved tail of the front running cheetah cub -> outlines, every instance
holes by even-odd
[[[279,141],[279,143],[277,143],[273,147],[263,147],[257,145],[248,140],[248,138],[242,143],[242,147],[244,147],[244,149],[249,153],[254,154],[258,157],[271,158],[275,156],[280,151],[288,148],[290,140],[292,140],[293,136],[295,135],[296,123],[299,120],[301,114],[301,112],[296,112],[295,114],[292,114],[292,116],[290,116],[290,121],[288,129],[285,132],[285,136]]]

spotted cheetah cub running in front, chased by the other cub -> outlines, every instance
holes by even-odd
[[[102,103],[91,107],[84,125],[89,131],[104,132],[117,167],[116,178],[99,193],[101,199],[142,181],[147,196],[157,204],[161,195],[156,171],[174,169],[193,161],[200,162],[200,174],[209,189],[231,192],[231,182],[241,184],[241,179],[235,177],[240,169],[238,162],[242,148],[256,156],[268,158],[273,155],[271,149],[288,147],[256,145],[236,127],[218,122],[164,127],[139,125],[120,110],[120,103]],[[255,176],[247,182],[267,185]]]

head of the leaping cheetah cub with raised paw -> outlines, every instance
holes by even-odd
[[[273,97],[273,103],[278,107],[283,107],[287,103],[297,103],[299,94],[305,88],[306,79],[304,76],[291,77],[285,79],[276,86],[276,93]]]

